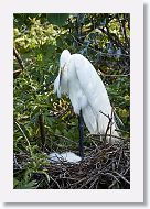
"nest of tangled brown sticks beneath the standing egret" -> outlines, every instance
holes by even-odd
[[[130,188],[130,153],[124,144],[104,143],[78,163],[60,161],[45,168],[49,189]]]

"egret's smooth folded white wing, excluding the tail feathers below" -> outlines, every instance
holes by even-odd
[[[97,113],[104,112],[104,114],[110,116],[111,106],[101,78],[87,58],[79,54],[74,54],[74,57],[81,88],[92,108]]]

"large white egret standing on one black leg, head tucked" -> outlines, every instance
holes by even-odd
[[[107,134],[118,136],[107,90],[86,57],[81,54],[71,55],[68,50],[63,51],[60,58],[60,72],[54,81],[54,92],[58,98],[62,94],[68,95],[74,112],[79,116],[79,155],[82,157],[84,155],[84,122],[92,134],[107,132]],[[114,142],[115,139],[111,138],[111,141]]]

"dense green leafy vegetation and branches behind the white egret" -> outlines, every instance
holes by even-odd
[[[13,20],[14,188],[46,188],[52,180],[47,154],[78,148],[77,117],[67,97],[60,100],[53,94],[63,50],[83,54],[95,66],[115,107],[121,135],[129,139],[130,16],[14,14]],[[87,139],[85,145],[94,144]],[[45,178],[39,180],[40,174]]]

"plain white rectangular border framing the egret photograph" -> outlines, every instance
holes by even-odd
[[[142,202],[143,201],[143,6],[129,0],[13,0],[0,7],[0,195],[4,202]],[[131,14],[131,188],[13,189],[13,13],[94,12]]]

